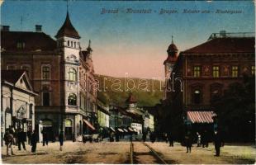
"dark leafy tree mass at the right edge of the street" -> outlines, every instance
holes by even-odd
[[[213,103],[218,125],[227,141],[254,142],[255,77],[244,76],[244,82],[230,84],[224,95]]]

